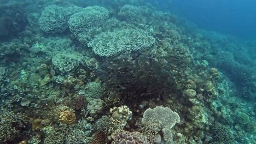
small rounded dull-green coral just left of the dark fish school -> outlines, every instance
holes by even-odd
[[[102,98],[104,94],[104,87],[100,82],[89,82],[86,85],[85,97],[86,98]]]

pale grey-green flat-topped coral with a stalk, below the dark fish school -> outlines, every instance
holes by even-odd
[[[158,123],[164,133],[164,140],[173,143],[171,129],[179,123],[179,115],[168,107],[156,106],[155,109],[147,109],[142,118],[142,124]]]

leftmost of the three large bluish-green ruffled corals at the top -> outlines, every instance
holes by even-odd
[[[39,17],[39,26],[46,33],[63,32],[68,28],[67,21],[70,16],[79,10],[78,7],[60,7],[49,5]]]

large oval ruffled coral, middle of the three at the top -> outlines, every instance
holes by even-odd
[[[108,18],[108,10],[103,7],[86,7],[72,15],[68,21],[70,30],[76,35],[101,25]]]

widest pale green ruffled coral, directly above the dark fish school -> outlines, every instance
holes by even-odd
[[[155,38],[143,29],[115,29],[103,32],[88,43],[99,56],[109,57],[123,51],[137,51],[152,46]]]

